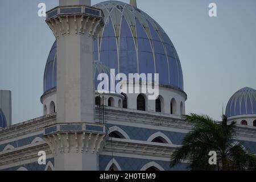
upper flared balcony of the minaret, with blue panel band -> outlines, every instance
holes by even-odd
[[[46,23],[58,39],[67,35],[88,35],[96,38],[104,26],[101,9],[90,6],[58,6],[46,13]]]

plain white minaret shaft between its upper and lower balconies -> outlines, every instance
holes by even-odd
[[[93,123],[93,42],[72,31],[57,39],[57,122]]]

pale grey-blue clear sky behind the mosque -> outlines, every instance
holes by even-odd
[[[102,1],[92,0],[92,4]],[[123,1],[129,2],[129,1]],[[217,17],[208,15],[216,3]],[[12,91],[13,124],[43,115],[40,97],[47,57],[55,37],[38,16],[57,0],[0,1],[0,89]],[[138,8],[170,36],[180,57],[186,113],[220,119],[229,98],[256,89],[255,0],[137,0]]]

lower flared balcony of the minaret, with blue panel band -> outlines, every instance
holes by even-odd
[[[102,150],[107,135],[104,125],[63,123],[44,129],[44,138],[53,155],[97,154]]]

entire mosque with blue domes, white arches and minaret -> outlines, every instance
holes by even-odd
[[[137,2],[59,0],[46,23],[56,37],[46,61],[43,116],[11,125],[11,92],[0,92],[0,170],[169,171],[172,152],[192,126],[185,114],[183,71],[162,27]],[[175,36],[175,35],[172,35]],[[100,93],[97,77],[159,73],[159,97]],[[141,80],[139,88],[148,85]],[[256,154],[256,90],[226,106],[236,139]],[[39,164],[39,151],[46,163]]]

